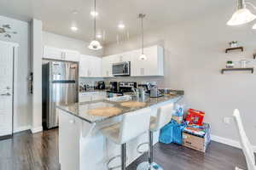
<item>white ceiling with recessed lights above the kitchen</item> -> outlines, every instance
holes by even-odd
[[[139,13],[147,14],[145,30],[158,29],[182,20],[191,20],[205,14],[213,14],[220,8],[234,8],[234,0],[97,0],[97,31],[106,31],[103,43],[116,42],[127,33],[119,31],[120,20],[130,37],[140,34]],[[18,20],[42,20],[44,31],[90,41],[93,36],[93,18],[90,10],[93,0],[1,0],[0,14]],[[79,14],[73,14],[77,10]],[[230,11],[231,13],[232,11]],[[70,30],[73,22],[79,31]],[[124,36],[126,35],[126,36]]]

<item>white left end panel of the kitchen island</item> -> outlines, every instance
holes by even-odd
[[[79,118],[60,111],[59,123],[59,159],[61,170],[80,169],[82,122]]]

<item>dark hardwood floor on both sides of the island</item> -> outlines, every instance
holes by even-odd
[[[143,155],[127,169],[135,170],[146,161]],[[234,170],[246,169],[241,152],[225,144],[212,142],[206,154],[177,144],[155,144],[154,161],[165,170]],[[60,170],[58,130],[32,134],[16,133],[13,139],[0,140],[0,170]]]

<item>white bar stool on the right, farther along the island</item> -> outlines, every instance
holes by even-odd
[[[173,103],[161,106],[157,111],[157,116],[151,116],[150,118],[150,126],[149,126],[149,142],[143,143],[148,144],[148,161],[144,161],[137,166],[137,170],[163,170],[157,163],[153,161],[153,133],[159,131],[160,128],[166,126],[172,119],[172,111],[173,111]],[[137,147],[137,151],[139,153],[143,153],[139,151],[139,147],[143,144],[139,144]]]

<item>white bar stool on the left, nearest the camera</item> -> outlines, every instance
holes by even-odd
[[[151,109],[146,108],[139,111],[126,113],[123,116],[122,122],[116,123],[109,127],[103,127],[100,131],[107,139],[110,139],[115,144],[121,144],[121,169],[125,170],[126,165],[126,147],[125,143],[131,139],[135,139],[141,134],[148,131],[150,122]],[[114,156],[116,158],[118,156]],[[113,159],[110,159],[113,161]],[[108,164],[110,162],[108,161]],[[107,165],[108,165],[107,164]],[[117,167],[108,167],[113,169]]]

